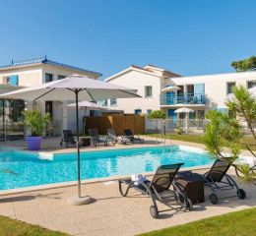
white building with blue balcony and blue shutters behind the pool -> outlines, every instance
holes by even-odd
[[[196,112],[190,118],[204,118],[207,110],[224,111],[224,101],[233,86],[242,85],[248,89],[256,86],[256,72],[226,73],[181,77],[159,67],[144,68],[131,66],[107,79],[106,82],[132,89],[138,89],[142,98],[110,99],[103,103],[111,109],[125,113],[145,113],[162,110],[167,117],[175,118],[174,110],[190,107]],[[162,92],[162,89],[177,86],[177,91]],[[185,114],[180,114],[183,118]]]

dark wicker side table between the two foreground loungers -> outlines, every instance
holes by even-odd
[[[205,181],[200,174],[191,171],[178,172],[175,177],[175,183],[184,191],[193,205],[205,202]]]

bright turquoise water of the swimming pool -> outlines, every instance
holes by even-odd
[[[204,152],[184,148],[127,148],[81,153],[82,179],[155,171],[160,164],[183,162],[183,167],[213,162]],[[74,181],[76,153],[54,154],[49,159],[21,150],[0,151],[0,190]]]

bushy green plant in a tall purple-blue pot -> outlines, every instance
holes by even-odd
[[[25,124],[31,131],[31,136],[27,136],[26,139],[28,147],[30,150],[38,150],[40,149],[44,128],[50,123],[50,114],[46,113],[45,115],[42,115],[37,109],[26,110],[23,114]]]

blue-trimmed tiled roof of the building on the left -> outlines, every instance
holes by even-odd
[[[76,70],[76,71],[81,71],[81,72],[86,72],[86,73],[102,76],[100,73],[89,71],[89,70],[79,68],[79,67],[69,66],[69,65],[62,64],[62,63],[55,62],[55,61],[51,61],[51,60],[48,60],[46,57],[34,58],[34,59],[30,59],[30,60],[17,61],[17,62],[12,61],[12,64],[10,64],[10,65],[0,66],[0,70],[15,68],[15,67],[19,67],[19,66],[36,65],[36,64],[47,64],[47,65],[63,67],[66,69],[71,69],[71,70]]]

